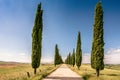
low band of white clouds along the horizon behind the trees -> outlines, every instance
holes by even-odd
[[[64,60],[65,58],[63,58]],[[53,63],[53,57],[43,56],[41,63]],[[0,52],[0,61],[31,62],[31,54]],[[120,64],[120,49],[110,49],[105,53],[105,64]],[[82,63],[90,63],[90,53],[84,53]]]

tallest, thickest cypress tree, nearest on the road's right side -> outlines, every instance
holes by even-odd
[[[103,40],[103,9],[101,2],[95,8],[94,33],[91,51],[91,67],[96,69],[96,76],[104,69],[104,40]]]

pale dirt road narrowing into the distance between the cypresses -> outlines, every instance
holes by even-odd
[[[77,73],[69,69],[67,65],[63,64],[43,80],[83,80],[83,79]]]

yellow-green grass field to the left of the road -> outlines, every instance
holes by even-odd
[[[37,74],[34,75],[31,64],[0,62],[0,80],[41,80],[59,66],[42,64],[37,69]],[[30,78],[28,78],[27,72],[30,73]]]

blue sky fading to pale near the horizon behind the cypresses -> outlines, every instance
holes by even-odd
[[[44,10],[42,59],[53,58],[55,44],[66,57],[76,48],[78,31],[83,54],[89,55],[98,0],[0,0],[0,60],[30,61],[31,33],[39,2]],[[119,4],[119,0],[102,0],[106,54],[120,49]]]

